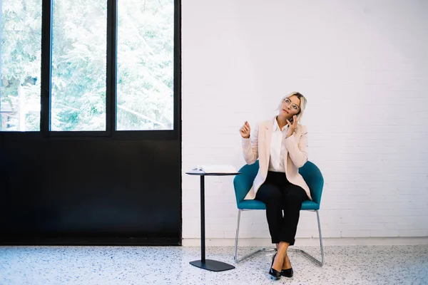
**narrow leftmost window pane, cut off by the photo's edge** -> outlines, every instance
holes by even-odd
[[[0,0],[0,8],[0,131],[38,131],[41,0]]]

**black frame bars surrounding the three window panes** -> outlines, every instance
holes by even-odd
[[[173,130],[116,130],[118,0],[107,0],[106,130],[53,131],[51,119],[52,18],[54,0],[42,0],[40,131],[1,131],[2,140],[178,140],[181,134],[181,0],[174,0]]]

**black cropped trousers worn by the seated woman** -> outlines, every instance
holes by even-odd
[[[255,199],[266,204],[272,244],[295,243],[297,223],[302,202],[307,199],[305,190],[287,180],[284,172],[267,172],[266,181],[260,186]],[[284,216],[282,216],[284,210]]]

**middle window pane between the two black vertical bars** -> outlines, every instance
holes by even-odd
[[[107,1],[54,0],[51,130],[106,130]]]

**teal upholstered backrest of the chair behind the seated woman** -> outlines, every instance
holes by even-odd
[[[258,160],[252,165],[244,165],[240,168],[240,175],[235,176],[233,179],[233,186],[235,187],[236,202],[240,203],[247,195],[253,186],[253,181],[259,169]],[[320,204],[322,187],[324,187],[324,178],[322,177],[320,169],[314,163],[307,161],[305,165],[299,168],[299,173],[302,175],[307,186],[310,189],[312,201]]]

